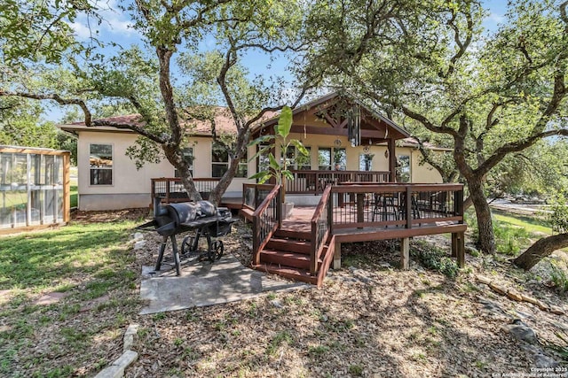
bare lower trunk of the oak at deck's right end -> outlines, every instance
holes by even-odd
[[[469,197],[476,209],[477,216],[477,247],[485,253],[495,253],[495,236],[493,235],[493,220],[487,198],[483,192],[481,178],[477,176],[468,179]]]

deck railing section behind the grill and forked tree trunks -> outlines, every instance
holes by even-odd
[[[195,189],[203,199],[209,198],[219,178],[193,178]],[[164,203],[185,202],[189,199],[184,184],[179,177],[161,177],[152,179],[152,198],[160,197]],[[154,201],[154,199],[152,199]]]

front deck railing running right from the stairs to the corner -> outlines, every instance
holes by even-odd
[[[461,184],[363,182],[331,189],[332,233],[346,228],[413,228],[440,221],[463,222]]]

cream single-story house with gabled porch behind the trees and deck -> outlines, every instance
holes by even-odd
[[[135,121],[137,115],[114,117],[114,121]],[[252,129],[252,138],[273,132],[278,117],[264,120]],[[114,127],[86,127],[75,122],[59,127],[78,137],[78,205],[83,211],[117,210],[146,207],[151,203],[153,179],[175,178],[177,173],[166,159],[160,163],[146,163],[137,169],[134,161],[127,156],[128,148],[137,139],[137,134]],[[235,127],[228,112],[217,112],[218,134],[234,134]],[[208,122],[196,122],[188,128],[188,146],[185,154],[193,161],[195,179],[215,180],[225,173],[228,155],[213,142]],[[316,182],[310,177],[323,177],[327,171],[341,171],[341,180],[374,181],[372,174],[383,174],[382,180],[439,183],[441,176],[431,166],[421,165],[421,154],[410,135],[392,120],[367,109],[351,96],[339,92],[320,97],[294,110],[292,138],[296,138],[309,150],[309,157],[299,156],[296,150],[289,150],[294,174],[298,181],[290,183],[289,196],[294,202],[305,204],[317,201],[319,194]],[[398,142],[396,142],[398,141]],[[396,143],[395,143],[396,142]],[[447,149],[432,150],[445,153]],[[276,153],[280,151],[276,150]],[[264,157],[248,161],[256,153],[250,147],[248,157],[243,158],[233,182],[225,197],[241,197],[244,183],[258,169],[266,164]],[[366,176],[361,174],[367,173]],[[343,179],[351,174],[352,179]],[[357,175],[356,175],[357,174]],[[302,188],[298,183],[304,180]],[[335,179],[337,181],[337,179]],[[294,186],[295,185],[295,186]],[[312,195],[312,198],[305,196]],[[314,196],[316,195],[316,196]]]

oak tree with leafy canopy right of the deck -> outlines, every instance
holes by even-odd
[[[567,3],[512,3],[492,34],[477,1],[423,2],[401,19],[395,2],[332,3],[342,5],[322,35],[338,48],[322,42],[312,66],[406,125],[451,142],[476,209],[479,247],[493,253],[487,174],[543,138],[568,135]]]

